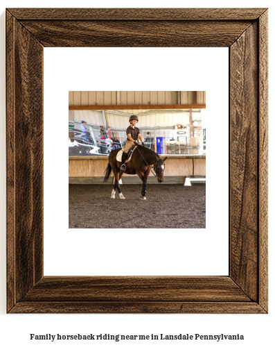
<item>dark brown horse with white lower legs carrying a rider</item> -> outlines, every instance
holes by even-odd
[[[142,190],[141,190],[141,199],[146,199],[146,185],[147,179],[150,174],[150,171],[153,167],[154,172],[159,183],[163,182],[163,170],[165,168],[165,160],[161,159],[160,156],[152,151],[151,149],[146,148],[145,146],[137,146],[132,153],[132,158],[126,164],[126,170],[121,170],[121,162],[116,160],[116,155],[121,149],[116,149],[109,153],[109,163],[105,170],[105,178],[103,182],[106,182],[111,174],[111,171],[114,173],[114,189],[112,190],[111,198],[115,198],[116,189],[118,190],[119,198],[125,199],[121,193],[121,187],[119,187],[119,180],[123,174],[128,175],[138,175],[142,181]]]

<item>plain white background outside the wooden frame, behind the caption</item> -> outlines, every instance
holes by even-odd
[[[39,3],[42,7],[64,7],[62,1],[47,1]],[[207,1],[209,7],[220,7],[220,1]],[[1,8],[1,235],[0,235],[0,346],[3,351],[273,351],[274,350],[274,217],[269,210],[269,314],[268,315],[6,315],[6,201],[5,201],[5,55],[2,48],[5,43],[5,7],[22,7],[21,1],[4,0]],[[37,7],[36,1],[24,1],[26,7]],[[129,7],[129,1],[66,1],[66,7]],[[159,1],[132,1],[131,7],[159,7]],[[206,7],[205,1],[163,1],[163,7]],[[274,32],[274,2],[272,1],[222,1],[223,7],[269,7],[269,33]],[[269,40],[269,77],[274,77],[274,39]],[[274,96],[274,79],[269,83],[269,116],[274,116],[272,97]],[[269,140],[272,140],[271,131],[274,131],[274,119],[269,121]],[[271,153],[270,153],[271,152]],[[269,142],[269,160],[272,160],[273,144]],[[271,162],[272,165],[272,162]],[[274,169],[269,168],[269,179],[274,179]],[[272,194],[274,184],[269,183],[269,209],[274,208]],[[245,340],[236,342],[33,342],[29,334],[46,333],[60,334],[178,334],[200,333],[208,334],[236,334],[245,335]]]

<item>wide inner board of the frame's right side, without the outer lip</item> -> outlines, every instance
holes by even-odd
[[[257,24],[231,46],[230,275],[258,299]],[[247,280],[248,278],[254,280]]]

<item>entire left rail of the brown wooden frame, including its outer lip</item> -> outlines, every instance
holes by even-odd
[[[7,276],[8,292],[19,301],[43,276],[43,48],[19,22],[7,17],[10,32],[7,231],[8,262],[13,267],[8,265]]]

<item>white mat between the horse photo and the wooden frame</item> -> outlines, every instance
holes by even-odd
[[[44,49],[45,275],[228,275],[228,67],[228,48]],[[131,78],[122,72],[131,72]],[[206,228],[68,229],[68,90],[206,90]],[[60,140],[58,158],[49,137],[53,126]],[[112,186],[106,187],[111,194]],[[139,206],[140,199],[132,201]],[[110,196],[105,202],[113,206]]]

